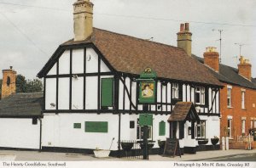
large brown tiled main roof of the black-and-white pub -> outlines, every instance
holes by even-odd
[[[189,57],[183,49],[159,42],[94,28],[88,39],[80,42],[72,39],[61,46],[85,43],[93,43],[113,69],[119,72],[139,75],[145,68],[151,67],[161,78],[221,85],[210,70]],[[39,77],[44,74],[44,69],[38,73]]]

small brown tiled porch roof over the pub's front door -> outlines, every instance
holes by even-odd
[[[200,120],[192,102],[178,102],[175,104],[168,121],[183,121],[186,119]]]

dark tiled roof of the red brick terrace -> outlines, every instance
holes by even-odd
[[[201,64],[204,63],[204,59],[195,55],[193,55],[192,57],[199,60]],[[252,81],[248,81],[247,79],[238,74],[238,70],[236,68],[230,67],[225,64],[219,64],[219,72],[216,72],[210,68],[209,70],[211,70],[212,74],[216,76],[219,81],[235,84],[240,87],[256,89],[256,80],[252,78]]]

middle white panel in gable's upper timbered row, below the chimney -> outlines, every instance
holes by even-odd
[[[73,49],[72,54],[72,73],[84,73],[84,49]]]

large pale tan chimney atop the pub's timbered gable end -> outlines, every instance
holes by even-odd
[[[93,3],[90,0],[78,0],[73,3],[74,41],[83,41],[92,33]]]

